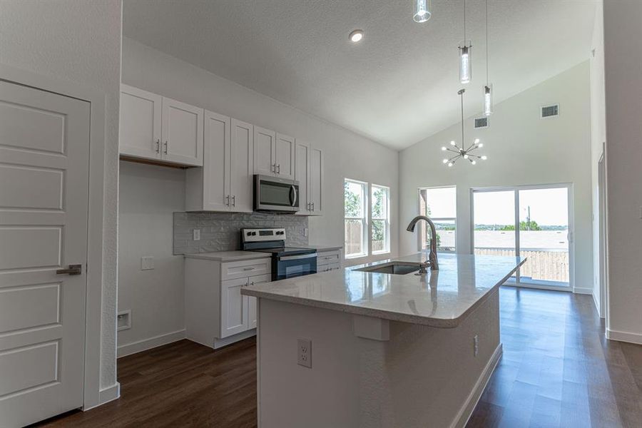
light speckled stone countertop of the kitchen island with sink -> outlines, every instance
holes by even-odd
[[[385,320],[432,327],[457,327],[504,283],[526,258],[439,254],[439,270],[417,276],[362,272],[360,267],[391,261],[423,263],[417,253],[342,270],[306,275],[253,287],[241,293]]]

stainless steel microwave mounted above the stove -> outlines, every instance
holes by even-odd
[[[299,210],[299,182],[254,175],[254,210],[296,213]]]

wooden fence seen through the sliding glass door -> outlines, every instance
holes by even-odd
[[[477,255],[506,255],[515,257],[515,250],[508,248],[475,248]],[[569,252],[556,250],[521,250],[521,257],[528,258],[519,268],[519,275],[533,280],[569,282]]]

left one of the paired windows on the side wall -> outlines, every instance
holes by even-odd
[[[346,179],[343,185],[345,209],[345,257],[368,255],[367,183]]]

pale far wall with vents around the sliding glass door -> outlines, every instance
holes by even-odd
[[[405,230],[418,213],[417,188],[457,185],[457,250],[471,246],[470,189],[502,185],[573,183],[575,286],[593,287],[591,227],[591,145],[588,61],[564,71],[495,106],[489,128],[474,130],[465,122],[467,138],[484,142],[488,161],[477,165],[442,164],[441,146],[461,140],[457,123],[402,151],[399,156],[399,253],[417,250],[417,235]],[[479,88],[467,88],[479,96]],[[457,96],[453,94],[453,96]],[[560,116],[541,119],[539,108],[560,104]]]

